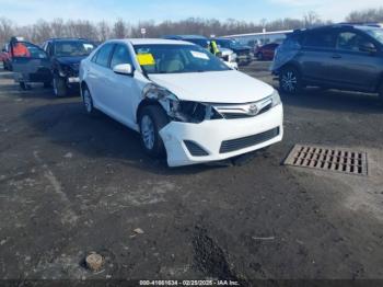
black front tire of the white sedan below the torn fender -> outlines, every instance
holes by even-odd
[[[152,124],[152,145],[149,145],[148,141],[150,141],[148,138],[150,137],[144,125],[146,120],[150,120]],[[152,158],[161,158],[165,154],[165,147],[162,141],[162,138],[159,134],[159,131],[169,124],[169,117],[165,114],[165,111],[156,105],[149,105],[142,108],[142,111],[139,114],[139,126],[140,126],[140,138],[141,138],[141,145],[144,149],[146,153],[148,153]]]

